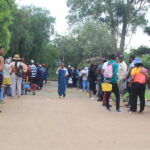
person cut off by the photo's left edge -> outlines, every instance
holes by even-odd
[[[0,46],[0,92],[2,91],[2,84],[3,84],[3,70],[4,70],[4,49]],[[2,93],[2,92],[1,92]],[[2,112],[0,110],[0,112]]]

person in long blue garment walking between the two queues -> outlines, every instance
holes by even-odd
[[[65,68],[65,65],[62,63],[57,69],[56,74],[58,75],[58,95],[59,98],[66,96],[66,77],[68,76],[68,70]]]

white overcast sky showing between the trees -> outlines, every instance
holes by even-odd
[[[43,7],[51,12],[51,15],[56,18],[55,30],[59,34],[67,33],[67,20],[65,17],[68,15],[68,7],[66,6],[67,0],[16,0],[18,5],[35,5]],[[148,13],[150,14],[150,13]],[[150,15],[147,16],[150,23]],[[150,37],[143,33],[143,29],[138,28],[136,34],[132,35],[132,40],[129,42],[131,37],[127,38],[128,48],[137,48],[140,45],[150,47]]]

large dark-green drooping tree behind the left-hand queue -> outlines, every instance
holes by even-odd
[[[8,55],[18,53],[25,57],[27,62],[34,59],[39,63],[54,64],[57,49],[52,46],[50,38],[54,33],[55,18],[50,12],[43,8],[24,6],[17,8],[13,17]]]

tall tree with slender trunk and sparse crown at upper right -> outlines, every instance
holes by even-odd
[[[116,41],[116,48],[119,45],[119,51],[123,53],[129,31],[135,31],[137,26],[146,24],[148,3],[150,0],[68,0],[70,14],[67,18],[71,24],[89,19],[106,24]]]

